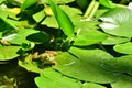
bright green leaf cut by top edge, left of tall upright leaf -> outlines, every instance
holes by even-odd
[[[37,0],[25,0],[23,4],[21,6],[21,11],[28,9],[29,7],[35,4]]]

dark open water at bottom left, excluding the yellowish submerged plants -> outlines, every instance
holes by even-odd
[[[28,72],[20,67],[18,59],[10,61],[8,64],[0,64],[0,78],[3,76],[13,78],[16,82],[16,88],[37,88],[34,78],[38,74]]]

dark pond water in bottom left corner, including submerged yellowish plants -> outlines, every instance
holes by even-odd
[[[0,88],[37,88],[34,82],[34,74],[18,65],[18,59],[8,64],[0,64]]]

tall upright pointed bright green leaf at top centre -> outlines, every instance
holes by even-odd
[[[48,0],[48,1],[54,12],[54,15],[58,22],[58,25],[63,30],[64,34],[67,36],[73,36],[74,25],[69,16],[61,8],[58,8],[52,0]]]

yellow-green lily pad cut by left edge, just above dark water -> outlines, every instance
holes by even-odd
[[[2,46],[0,47],[0,61],[9,61],[19,56],[16,52],[20,46]]]

